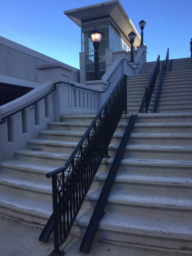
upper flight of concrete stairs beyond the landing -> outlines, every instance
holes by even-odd
[[[167,64],[167,71],[169,70],[170,60]],[[127,106],[129,113],[138,113],[140,104],[143,99],[145,87],[147,87],[148,80],[155,62],[149,62],[143,65],[140,69],[139,75],[130,76],[127,80]],[[160,61],[161,71],[162,61]],[[155,99],[157,96],[159,82],[161,80],[161,73],[158,74],[157,82],[155,84],[155,91],[151,98],[148,113],[153,113]],[[175,59],[172,62],[171,72],[166,72],[161,95],[159,98],[159,105],[157,113],[165,112],[192,112],[192,65],[191,58]],[[143,110],[143,112],[145,109]]]

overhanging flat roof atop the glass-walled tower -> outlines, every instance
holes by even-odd
[[[133,46],[136,48],[136,46],[140,45],[140,35],[138,34],[138,31],[135,29],[135,26],[129,19],[119,0],[111,0],[99,4],[75,8],[64,11],[64,14],[67,15],[68,18],[75,22],[79,27],[82,27],[82,20],[110,15],[127,38],[131,31],[135,32],[136,38]]]

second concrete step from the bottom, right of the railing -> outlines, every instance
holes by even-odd
[[[119,210],[124,211],[127,214],[146,214],[155,215],[157,217],[185,217],[186,219],[192,219],[192,199],[191,199],[191,187],[163,187],[155,189],[153,185],[144,186],[135,184],[131,186],[127,184],[127,191],[122,190],[118,184],[114,184],[114,189],[110,192],[108,198],[108,204],[105,211]],[[138,189],[138,190],[137,190]],[[163,192],[161,193],[161,190]],[[174,193],[174,191],[178,193]],[[179,194],[182,193],[182,196]],[[183,191],[183,192],[182,192]],[[188,194],[184,195],[184,191]],[[101,189],[92,192],[87,196],[87,199],[91,201],[91,206],[95,206],[99,198]]]

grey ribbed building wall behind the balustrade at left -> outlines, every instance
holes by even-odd
[[[0,37],[0,82],[35,88],[39,85],[35,66],[49,63],[61,62]],[[79,70],[67,66],[72,79],[79,82]]]

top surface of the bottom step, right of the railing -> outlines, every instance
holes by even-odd
[[[84,214],[79,224],[88,225],[91,213]],[[139,233],[157,237],[185,239],[184,235],[192,235],[191,220],[172,217],[156,217],[153,215],[127,214],[120,211],[107,211],[100,221],[99,229],[111,231]],[[174,236],[175,235],[175,236]],[[187,238],[188,239],[188,236]]]

